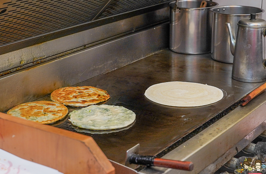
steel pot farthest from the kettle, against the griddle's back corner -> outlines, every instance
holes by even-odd
[[[200,8],[202,0],[179,0],[170,6],[170,49],[177,53],[203,54],[211,49],[211,12],[218,5],[207,1],[207,7]]]

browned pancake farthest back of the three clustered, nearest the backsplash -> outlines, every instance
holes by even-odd
[[[107,91],[91,87],[64,87],[51,93],[51,100],[69,106],[88,106],[106,101],[110,98]]]

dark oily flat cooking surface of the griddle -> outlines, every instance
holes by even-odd
[[[162,156],[230,112],[241,98],[263,84],[236,81],[231,78],[231,70],[232,64],[214,61],[210,54],[185,55],[163,50],[77,85],[108,91],[111,98],[105,104],[123,106],[136,113],[131,126],[87,131],[75,129],[67,118],[54,126],[92,136],[109,159],[121,164],[126,150],[137,143],[141,155]],[[184,108],[160,105],[144,96],[151,85],[169,81],[212,85],[222,89],[224,97],[211,105]],[[49,100],[49,96],[44,99]]]

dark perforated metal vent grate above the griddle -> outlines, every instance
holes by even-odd
[[[0,47],[90,22],[109,1],[0,0]],[[98,19],[167,1],[114,0]]]

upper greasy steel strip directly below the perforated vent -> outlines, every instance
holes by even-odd
[[[159,25],[168,21],[168,19],[168,7],[154,9],[152,12],[86,29],[16,51],[4,53],[0,50],[0,76]],[[168,36],[165,35],[164,37],[168,39]],[[13,45],[11,48],[14,47]],[[7,49],[4,51],[7,51]]]

